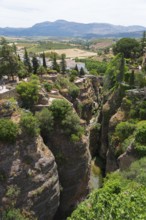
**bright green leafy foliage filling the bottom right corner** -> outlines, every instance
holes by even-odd
[[[106,177],[104,186],[93,191],[68,220],[145,219],[145,159],[133,164],[126,173]]]

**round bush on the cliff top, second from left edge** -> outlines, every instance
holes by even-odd
[[[21,116],[20,120],[21,131],[30,137],[35,137],[39,135],[39,121],[32,115],[32,113],[25,113]]]

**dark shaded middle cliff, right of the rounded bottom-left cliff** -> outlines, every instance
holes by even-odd
[[[55,156],[62,188],[59,216],[56,217],[58,220],[70,214],[88,194],[91,157],[88,137],[85,136],[78,142],[71,142],[63,132],[56,129],[48,146]]]

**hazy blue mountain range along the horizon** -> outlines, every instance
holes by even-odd
[[[146,30],[143,26],[122,26],[108,23],[77,23],[65,20],[42,22],[29,28],[0,28],[3,36],[50,36],[50,37],[135,37]]]

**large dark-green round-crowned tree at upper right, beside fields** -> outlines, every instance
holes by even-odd
[[[136,54],[140,55],[140,44],[132,38],[122,38],[113,47],[114,54],[122,53],[124,58],[135,58]]]

